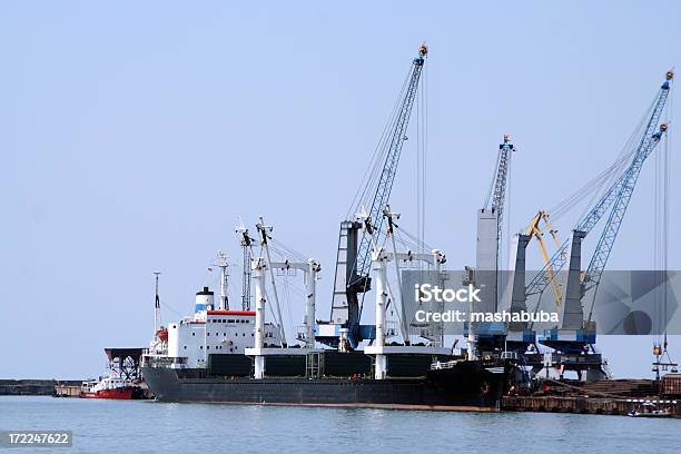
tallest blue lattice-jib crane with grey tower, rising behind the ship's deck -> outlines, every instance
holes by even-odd
[[[340,328],[347,329],[348,343],[353,348],[363,338],[369,337],[368,330],[361,332],[359,326],[362,316],[359,295],[364,295],[371,289],[372,246],[369,235],[379,244],[386,237],[382,211],[388,204],[399,155],[404,142],[407,140],[407,126],[427,53],[427,47],[422,45],[418,48],[418,55],[412,60],[409,73],[394,115],[376,149],[377,166],[367,174],[367,184],[359,200],[362,206],[368,210],[367,221],[363,225],[357,219],[351,219],[340,224],[330,323],[326,325],[326,332],[324,332],[324,326],[319,326],[320,333],[318,336],[322,342],[329,345],[337,345],[337,332]],[[328,335],[325,335],[325,333]]]

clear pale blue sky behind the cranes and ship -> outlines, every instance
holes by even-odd
[[[326,316],[338,221],[424,40],[427,241],[453,268],[473,264],[502,135],[520,150],[520,229],[619,152],[681,62],[679,23],[673,1],[4,2],[0,377],[93,376],[105,346],[147,345],[152,272],[189,313],[215,251],[238,257],[238,215],[265,215],[322,260]],[[405,216],[413,164],[407,148]],[[652,178],[651,166],[612,269],[652,266]],[[616,375],[650,376],[649,339],[601,346]]]

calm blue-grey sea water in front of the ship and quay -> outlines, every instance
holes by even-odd
[[[71,430],[39,453],[675,453],[681,420],[0,397],[0,430]],[[30,448],[12,448],[28,453]]]

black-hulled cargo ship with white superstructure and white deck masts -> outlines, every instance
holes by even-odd
[[[263,234],[259,243],[267,248],[264,238]],[[440,250],[408,255],[444,263]],[[374,254],[379,289],[387,285],[391,259]],[[480,351],[473,357],[470,347],[454,354],[454,348],[443,346],[442,329],[421,326],[409,343],[386,342],[398,336],[386,319],[385,308],[393,302],[384,292],[376,293],[377,322],[362,325],[363,345],[353,346],[349,328],[315,319],[320,270],[315,259],[258,257],[250,265],[247,282],[255,287],[255,310],[248,295],[239,309],[229,308],[223,263],[217,302],[214,292],[204,287],[196,294],[194,315],[155,329],[141,373],[157,401],[496,412],[511,384],[522,381],[513,356]],[[306,285],[306,313],[295,345],[286,342],[280,324],[265,322],[268,272],[292,269],[304,272]]]

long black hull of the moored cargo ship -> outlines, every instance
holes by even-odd
[[[506,366],[460,362],[409,378],[305,378],[205,376],[199,369],[142,367],[161,402],[499,411]]]

